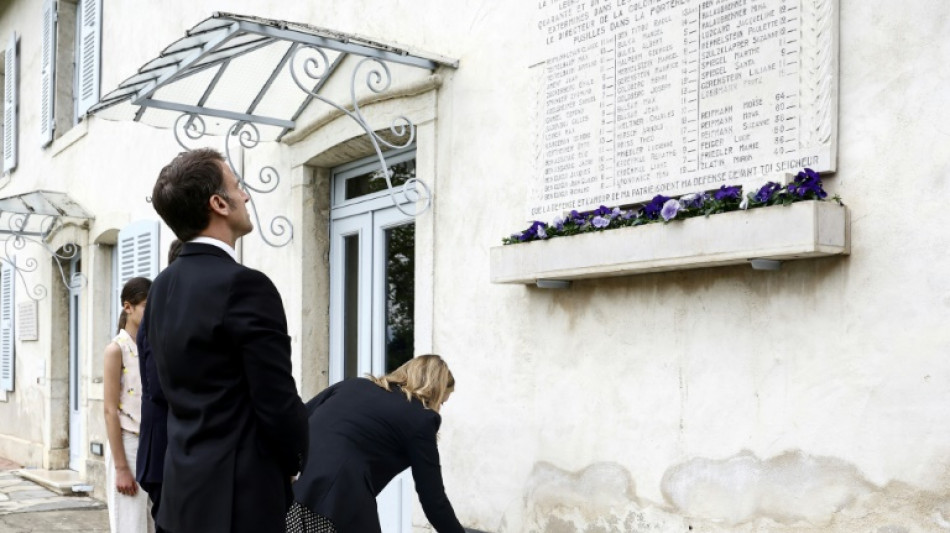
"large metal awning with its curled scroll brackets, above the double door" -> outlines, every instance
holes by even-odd
[[[414,142],[415,126],[399,116],[380,134],[360,102],[384,95],[394,71],[428,75],[440,67],[457,68],[458,61],[309,24],[215,13],[105,95],[90,113],[173,128],[185,149],[205,135],[224,135],[225,158],[251,196],[255,227],[267,244],[285,246],[293,239],[290,219],[277,215],[261,224],[254,202],[254,193],[276,189],[277,170],[264,167],[249,182],[231,160],[231,143],[249,149],[279,141],[319,101],[359,125],[379,159],[378,177],[386,181],[393,205],[419,214],[430,205],[429,188],[416,179],[394,187],[385,157],[387,150]],[[407,206],[416,211],[410,213]]]

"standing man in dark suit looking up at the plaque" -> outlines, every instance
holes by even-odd
[[[145,312],[169,408],[158,524],[171,533],[283,531],[307,449],[280,294],[234,252],[253,229],[247,200],[210,149],[179,154],[152,191],[185,242]]]

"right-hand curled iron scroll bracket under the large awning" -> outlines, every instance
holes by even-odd
[[[306,53],[315,53],[316,55],[310,55],[309,57],[302,55]],[[432,193],[429,190],[428,185],[418,178],[413,177],[398,187],[393,186],[393,172],[386,163],[386,157],[382,150],[382,146],[385,146],[389,149],[408,147],[413,141],[415,141],[416,126],[406,116],[400,115],[394,118],[389,126],[389,133],[395,142],[379,135],[372,127],[370,127],[365,115],[363,115],[362,109],[360,109],[359,100],[357,99],[356,95],[356,89],[359,86],[357,83],[357,78],[363,66],[367,64],[371,66],[371,68],[369,68],[369,70],[366,72],[366,87],[370,91],[372,91],[374,94],[382,94],[386,92],[392,85],[392,72],[390,72],[389,66],[385,61],[375,57],[366,57],[361,59],[359,63],[353,67],[353,72],[350,77],[351,109],[326,98],[318,92],[311,90],[301,80],[298,69],[301,70],[303,75],[306,75],[307,78],[309,78],[309,80],[313,83],[319,83],[323,81],[324,77],[330,73],[330,61],[322,49],[308,45],[298,47],[290,61],[290,75],[300,90],[307,93],[310,97],[335,108],[339,112],[350,117],[354,122],[357,123],[357,125],[359,125],[359,127],[366,133],[367,138],[373,145],[373,150],[376,152],[376,157],[379,159],[380,170],[377,171],[375,178],[386,180],[386,188],[389,191],[389,196],[392,199],[393,205],[405,215],[416,216],[422,214],[427,209],[429,209],[429,206],[432,203]],[[422,202],[421,206],[419,205],[419,202]],[[413,206],[414,209],[407,209],[407,205]]]

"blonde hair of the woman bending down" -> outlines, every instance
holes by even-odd
[[[392,385],[399,386],[407,400],[416,398],[426,409],[433,411],[438,411],[448,393],[455,389],[455,378],[449,365],[435,354],[414,357],[385,376],[368,377],[388,391],[392,390]]]

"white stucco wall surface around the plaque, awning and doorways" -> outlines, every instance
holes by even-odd
[[[39,28],[32,4],[0,11],[0,36]],[[776,272],[725,267],[579,281],[565,291],[488,281],[489,248],[525,225],[539,82],[533,3],[173,4],[105,2],[104,93],[224,8],[460,60],[458,70],[438,72],[436,92],[378,114],[404,105],[425,131],[419,151],[435,203],[417,221],[425,265],[417,286],[431,287],[417,295],[419,316],[430,317],[417,347],[442,354],[458,382],[443,410],[440,449],[448,494],[467,526],[950,529],[950,236],[940,218],[950,192],[946,3],[840,0],[838,172],[825,188],[851,210],[850,256]],[[68,191],[96,215],[87,246],[154,217],[144,198],[179,151],[171,134],[93,118],[68,147],[37,149],[38,37],[18,31],[21,163],[0,196]],[[348,138],[341,128],[331,123],[247,159],[248,167],[268,161],[282,176],[279,192],[258,202],[263,221],[284,214],[295,223],[290,246],[273,250],[252,235],[242,253],[284,296],[304,396],[326,382],[321,169]],[[163,255],[171,239],[164,230]],[[102,305],[99,291],[85,293],[87,316]],[[42,337],[55,322],[49,303],[40,309]],[[84,328],[89,440],[104,439],[94,382],[101,322]],[[19,429],[0,436],[0,455],[55,455],[51,424],[44,434],[25,423],[51,416],[56,393],[34,383],[39,361],[49,369],[60,357],[49,342],[17,345],[17,392],[0,403],[0,424],[14,420]],[[424,523],[418,509],[414,522]]]

